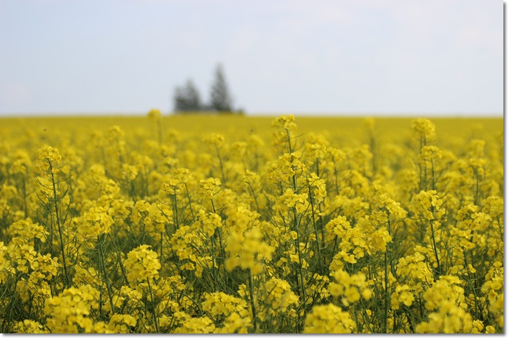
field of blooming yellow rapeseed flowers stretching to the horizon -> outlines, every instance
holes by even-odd
[[[503,333],[503,119],[0,120],[2,333]]]

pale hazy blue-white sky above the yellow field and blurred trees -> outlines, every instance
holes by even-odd
[[[0,0],[0,115],[503,114],[503,1]]]

